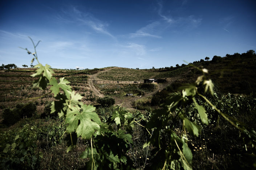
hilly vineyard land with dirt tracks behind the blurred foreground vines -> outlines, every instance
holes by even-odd
[[[199,70],[202,67],[208,70],[206,78],[210,78],[214,83],[215,93],[213,96],[208,92],[204,93],[203,86],[200,86],[200,84],[198,85],[200,86],[198,91],[204,94],[220,111],[224,112],[231,122],[237,123],[237,127],[256,129],[256,55],[253,51],[243,54],[227,54],[224,58],[214,56],[211,61],[195,61],[194,63],[183,64],[174,68],[137,70],[107,67],[86,70],[53,69],[53,71],[56,73],[54,77],[57,78],[58,82],[61,81],[60,78],[65,77],[70,82],[72,90],[81,94],[82,98],[79,99],[79,102],[97,107],[96,113],[101,119],[100,121],[104,123],[109,121],[113,134],[117,133],[117,128],[121,127],[119,127],[120,124],[115,124],[117,120],[111,116],[123,114],[125,116],[121,116],[122,119],[133,118],[137,122],[134,122],[134,126],[126,124],[122,127],[126,130],[126,135],[124,135],[125,133],[122,134],[125,137],[121,135],[122,139],[129,139],[128,136],[131,134],[131,141],[127,145],[125,156],[133,161],[136,169],[153,167],[161,162],[162,159],[162,157],[158,156],[162,150],[157,151],[156,146],[151,145],[143,148],[143,145],[152,136],[154,137],[154,135],[151,136],[148,133],[151,128],[148,128],[147,131],[145,130],[145,127],[150,122],[151,126],[162,126],[162,123],[166,123],[163,125],[164,128],[160,129],[161,133],[159,132],[158,135],[155,135],[155,137],[161,135],[163,148],[175,148],[176,145],[178,146],[185,141],[180,148],[187,145],[191,149],[193,169],[234,169],[236,167],[251,169],[253,168],[252,162],[255,160],[255,147],[253,148],[252,145],[254,144],[254,141],[252,141],[253,136],[246,137],[243,131],[239,131],[227,119],[220,116],[203,98],[196,97],[195,100],[198,105],[206,109],[208,126],[202,123],[201,115],[199,116],[196,109],[198,106],[193,101],[184,102],[187,105],[182,108],[180,106],[185,105],[184,103],[175,104],[176,109],[180,109],[182,115],[177,116],[177,113],[175,116],[170,112],[166,117],[168,121],[162,119],[166,116],[163,114],[165,112],[164,109],[167,108],[168,110],[168,107],[175,106],[173,103],[168,103],[168,107],[166,107],[164,103],[170,100],[170,98],[168,100],[166,98],[172,92],[179,94],[179,88],[183,84],[194,83],[202,75],[202,71]],[[37,157],[37,153],[41,154],[42,158],[39,156],[38,162],[34,162],[34,165],[37,165],[38,168],[40,167],[39,169],[84,168],[88,164],[88,159],[82,159],[79,155],[82,154],[85,148],[90,148],[92,141],[77,137],[75,139],[77,140],[77,146],[69,153],[66,152],[67,142],[64,138],[68,138],[69,134],[66,135],[64,131],[67,124],[65,119],[58,118],[57,112],[50,114],[50,102],[56,100],[53,94],[50,93],[50,86],[45,90],[33,88],[32,84],[35,78],[30,75],[35,71],[34,68],[15,68],[0,71],[0,140],[3,143],[0,144],[0,148],[3,151],[1,156],[13,156],[8,157],[9,161],[19,157],[19,152],[13,152],[11,147],[16,147],[16,144],[13,144],[15,140],[18,140],[19,143],[24,142],[21,139],[21,135],[17,137],[17,134],[25,134],[29,136],[25,136],[25,138],[32,141],[30,141],[31,145],[25,143],[28,144],[28,151],[24,151],[24,153],[36,155]],[[143,80],[148,78],[160,79],[161,83],[143,83]],[[189,89],[191,86],[187,87]],[[61,91],[60,93],[63,92]],[[186,93],[192,94],[190,90],[186,91]],[[132,94],[132,96],[126,96],[126,94]],[[114,105],[122,105],[126,110],[118,110],[113,106],[100,106],[100,102],[97,99],[102,97],[114,98]],[[182,101],[186,99],[191,99],[191,96],[182,98]],[[175,113],[176,109],[172,110],[172,112]],[[82,109],[79,110],[77,114],[82,111]],[[155,113],[162,115],[154,117]],[[187,128],[188,125],[185,125],[185,122],[181,119],[184,121],[189,119],[193,126]],[[121,119],[119,121],[122,123]],[[78,124],[80,123],[77,122]],[[131,126],[132,129],[126,129],[126,126]],[[173,128],[169,131],[169,127]],[[184,127],[186,127],[186,130]],[[202,128],[202,131],[195,131],[198,127]],[[121,134],[123,129],[119,129],[118,132]],[[129,133],[130,130],[132,130],[131,133]],[[155,131],[157,130],[159,129],[155,128]],[[248,134],[251,130],[248,131]],[[168,138],[170,132],[175,132],[184,141],[178,141],[179,138],[177,137],[176,140],[179,144],[167,145],[171,143]],[[102,131],[102,133],[106,132]],[[193,133],[198,133],[198,137]],[[94,132],[92,134],[98,135],[98,133]],[[63,135],[64,137],[61,138]],[[70,133],[70,136],[72,135],[74,134]],[[96,145],[97,139],[94,138],[93,140]],[[102,141],[110,141],[112,144],[117,140],[115,138],[110,140],[110,138],[106,137],[104,140],[98,140],[100,144],[102,144]],[[9,143],[12,145],[7,145]],[[22,148],[23,146],[20,145],[19,147]],[[4,154],[7,152],[6,148],[9,148],[8,156]],[[18,150],[18,147],[14,150]],[[174,152],[176,151],[174,150]],[[183,152],[185,151],[183,150]],[[25,155],[28,160],[31,159],[29,154]],[[175,154],[179,157],[177,152]],[[35,160],[35,157],[33,159]],[[147,164],[145,164],[145,160]],[[1,166],[4,166],[6,162],[1,163]],[[22,163],[22,165],[25,165],[24,162]]]

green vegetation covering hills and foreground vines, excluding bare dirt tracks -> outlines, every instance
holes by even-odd
[[[48,77],[11,66],[0,71],[1,169],[256,168],[253,50],[147,70],[53,69]],[[35,85],[34,73],[49,84]],[[99,98],[90,88],[93,75],[166,81],[97,84],[105,95]],[[112,106],[117,101],[133,108]]]

